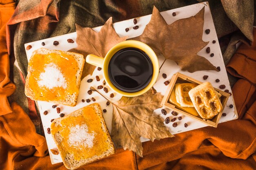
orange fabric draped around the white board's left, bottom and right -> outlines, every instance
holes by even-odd
[[[45,138],[36,133],[29,116],[18,104],[12,103],[9,106],[7,102],[6,97],[13,93],[15,86],[8,78],[9,56],[4,23],[10,18],[15,4],[0,7],[0,169],[64,170],[66,168],[63,163],[51,164]],[[256,37],[256,33],[254,36]],[[244,48],[240,52],[244,56],[239,57],[240,53],[237,53],[229,64],[236,71],[237,77],[246,79],[238,80],[233,87],[239,119],[219,124],[218,128],[200,128],[177,134],[173,138],[145,142],[143,158],[120,148],[117,154],[79,169],[256,169],[256,87],[255,83],[250,83],[254,82],[255,77],[251,75],[256,75],[256,71],[250,67],[254,63],[251,54],[256,51],[252,49],[254,45]],[[247,48],[252,49],[252,53]],[[245,63],[250,66],[244,67]]]

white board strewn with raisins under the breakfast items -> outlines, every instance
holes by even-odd
[[[231,88],[230,88],[230,84],[229,84],[229,80],[227,77],[227,72],[225,69],[225,64],[223,62],[223,58],[222,58],[222,54],[220,51],[220,46],[218,43],[218,38],[216,35],[216,31],[215,31],[215,27],[213,24],[213,19],[211,16],[211,12],[210,12],[210,8],[209,8],[209,4],[208,2],[202,2],[202,3],[198,3],[198,4],[193,4],[190,6],[186,6],[186,7],[181,7],[181,8],[177,8],[177,9],[172,9],[172,10],[168,10],[168,11],[163,11],[161,12],[162,16],[164,17],[164,19],[166,20],[167,24],[171,24],[173,22],[175,22],[176,20],[182,19],[182,18],[188,18],[191,17],[193,15],[195,15],[196,13],[198,13],[200,11],[200,9],[202,9],[203,7],[205,7],[205,12],[204,12],[204,30],[205,29],[210,29],[211,32],[207,35],[205,32],[203,33],[203,37],[202,39],[205,42],[209,41],[209,44],[207,46],[211,47],[211,53],[214,53],[214,57],[210,57],[208,53],[206,53],[206,47],[204,47],[204,49],[202,49],[200,52],[198,52],[198,55],[203,56],[205,58],[207,58],[207,60],[209,60],[214,66],[220,66],[221,71],[217,72],[217,71],[196,71],[194,73],[189,73],[188,71],[182,71],[180,69],[179,66],[177,66],[177,64],[171,60],[166,60],[166,62],[164,63],[164,65],[161,68],[161,71],[159,73],[159,77],[157,79],[156,84],[154,85],[154,88],[157,90],[157,92],[160,92],[162,95],[164,95],[167,86],[164,85],[164,82],[166,80],[170,80],[171,77],[173,76],[174,73],[176,72],[180,72],[182,74],[188,75],[190,77],[193,77],[195,79],[198,79],[199,81],[205,82],[206,80],[203,80],[203,75],[209,75],[207,81],[211,82],[213,84],[214,87],[219,88],[219,86],[221,84],[225,84],[226,88],[231,92]],[[176,16],[173,17],[172,13],[176,12]],[[133,38],[133,37],[137,37],[139,35],[141,35],[144,31],[144,28],[146,26],[146,24],[148,24],[148,22],[150,21],[151,15],[146,15],[143,17],[139,17],[137,18],[137,25],[139,26],[139,29],[134,30],[132,29],[132,27],[134,26],[133,24],[133,19],[130,20],[125,20],[125,21],[121,21],[121,22],[116,22],[114,23],[114,28],[115,31],[117,32],[117,34],[120,37],[124,37],[124,36],[128,36],[128,38]],[[129,27],[129,31],[126,32],[125,29]],[[101,26],[94,28],[95,31],[99,32],[101,29]],[[76,40],[76,32],[74,33],[69,33],[69,34],[65,34],[65,35],[60,35],[57,37],[53,37],[53,38],[47,38],[44,40],[39,40],[39,41],[35,41],[35,42],[30,42],[25,44],[25,48],[27,45],[31,45],[32,48],[30,50],[26,50],[27,53],[27,59],[29,60],[29,58],[31,57],[31,54],[34,50],[44,47],[47,49],[56,49],[56,50],[62,50],[62,51],[68,51],[72,48],[75,48],[77,45],[76,43],[68,43],[67,39],[71,38],[72,40]],[[57,46],[53,45],[54,41],[58,41],[59,44]],[[213,44],[212,41],[216,40],[216,43]],[[45,46],[41,46],[41,43],[45,42]],[[159,65],[162,64],[162,62],[164,61],[164,57],[163,56],[158,56],[159,57]],[[167,78],[164,79],[162,77],[162,73],[166,73],[167,74]],[[99,75],[101,81],[97,82],[95,79],[95,76]],[[87,79],[93,79],[92,83],[88,83]],[[220,79],[219,83],[215,82],[215,79]],[[58,107],[61,108],[61,113],[65,113],[65,115],[68,115],[69,113],[72,113],[73,111],[82,108],[86,105],[92,104],[94,102],[90,103],[86,103],[86,102],[81,102],[82,99],[91,99],[92,97],[94,97],[96,99],[96,102],[99,103],[101,105],[101,108],[107,109],[107,113],[103,113],[104,119],[106,121],[106,124],[108,126],[108,130],[111,133],[111,121],[112,121],[112,105],[110,104],[109,106],[106,106],[106,99],[104,99],[101,95],[99,95],[97,92],[93,92],[92,95],[88,95],[87,91],[90,89],[90,86],[94,86],[97,87],[99,85],[103,85],[103,74],[102,74],[102,70],[98,71],[97,68],[94,70],[94,73],[92,76],[88,75],[87,77],[85,77],[82,81],[81,81],[81,86],[79,89],[79,96],[78,96],[78,101],[77,101],[77,105],[75,107],[70,107],[70,106],[64,106],[64,105],[58,105]],[[100,91],[102,92],[103,95],[105,95],[106,97],[108,97],[110,99],[110,101],[118,101],[121,96],[115,94],[114,98],[110,98],[109,95],[110,93],[113,93],[110,88],[106,85],[106,87],[108,88],[109,92],[105,93],[103,91],[103,89],[101,89]],[[229,108],[228,106],[230,104],[233,104],[234,107],[233,108]],[[60,155],[53,155],[52,152],[50,152],[50,149],[56,149],[56,144],[54,143],[54,140],[52,138],[51,135],[47,134],[47,128],[50,127],[51,119],[55,119],[59,117],[59,114],[56,113],[56,108],[52,108],[52,105],[54,105],[53,103],[49,103],[49,102],[40,102],[38,101],[38,106],[39,106],[39,111],[40,111],[40,116],[42,119],[42,123],[43,123],[43,128],[45,131],[45,138],[47,141],[47,145],[48,145],[48,149],[49,149],[49,155],[51,158],[52,163],[59,163],[62,162],[61,156]],[[47,110],[48,111],[48,115],[43,115],[43,112]],[[157,109],[154,111],[154,114],[156,115],[160,115],[163,118],[163,121],[166,117],[170,117],[170,119],[172,119],[174,116],[171,115],[171,111],[172,110],[168,110],[167,111],[167,115],[164,116],[161,113],[161,108]],[[226,117],[221,117],[220,118],[220,123],[225,122],[225,121],[230,121],[230,120],[234,120],[237,119],[237,113],[236,113],[236,108],[235,108],[235,104],[234,104],[234,99],[233,96],[229,97],[229,100],[227,102],[227,106],[224,108],[223,113],[227,113]],[[171,134],[177,134],[180,132],[186,132],[189,130],[193,130],[193,129],[198,129],[198,128],[202,128],[205,127],[207,125],[198,122],[194,119],[191,119],[190,117],[185,117],[181,114],[177,115],[176,117],[182,116],[182,120],[176,120],[175,122],[178,123],[178,126],[176,128],[173,128],[172,124],[173,122],[170,122],[169,124],[166,124],[166,126],[168,127],[168,129],[170,130]],[[184,123],[187,123],[189,126],[187,128],[184,127]],[[144,141],[148,141],[149,139],[143,138],[141,137],[141,142]]]

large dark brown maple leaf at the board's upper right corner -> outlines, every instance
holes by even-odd
[[[208,44],[202,40],[204,8],[195,16],[184,18],[168,25],[156,7],[144,32],[133,40],[148,44],[156,53],[173,60],[182,70],[218,71],[206,58],[197,53]]]

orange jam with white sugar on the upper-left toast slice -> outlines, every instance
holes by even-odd
[[[36,100],[62,100],[66,95],[79,93],[76,86],[78,64],[71,55],[36,54],[29,60],[28,67],[31,70],[29,91],[35,94]]]

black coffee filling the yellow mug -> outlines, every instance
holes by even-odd
[[[108,77],[121,91],[137,92],[145,88],[153,75],[153,64],[148,55],[136,48],[117,51],[108,64]]]

